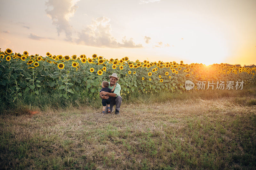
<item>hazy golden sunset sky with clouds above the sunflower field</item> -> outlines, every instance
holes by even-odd
[[[256,64],[255,0],[0,0],[0,48]]]

